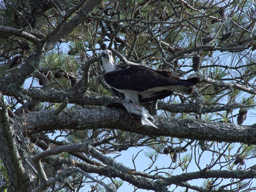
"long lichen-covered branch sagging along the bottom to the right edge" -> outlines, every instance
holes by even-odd
[[[55,169],[59,169],[59,167],[62,166],[62,164],[71,164],[73,163],[72,160],[67,160],[61,157],[46,157],[43,159],[44,162],[47,162],[51,164]],[[132,175],[124,174],[122,172],[113,170],[111,167],[101,167],[101,166],[95,166],[90,164],[84,164],[82,162],[74,161],[74,166],[80,167],[85,172],[89,173],[97,173],[99,175],[105,175],[111,177],[118,177],[122,180],[125,180],[129,183],[132,183],[132,185],[147,189],[147,190],[154,190],[157,191],[159,188],[165,188],[165,186],[169,186],[172,184],[181,184],[181,186],[184,186],[185,183],[189,180],[198,179],[198,178],[239,178],[239,179],[247,179],[247,178],[255,178],[256,171],[247,171],[247,170],[208,170],[208,171],[197,171],[197,172],[191,172],[191,173],[183,173],[180,175],[173,175],[170,177],[164,177],[162,175],[149,175],[142,172],[134,172]],[[141,174],[137,174],[141,173]],[[141,175],[141,177],[138,177],[136,175]],[[145,177],[148,177],[152,180],[146,179]],[[161,184],[161,186],[159,186]],[[198,188],[199,189],[199,188]],[[202,191],[203,188],[200,188]],[[219,189],[220,191],[224,191],[222,189]]]

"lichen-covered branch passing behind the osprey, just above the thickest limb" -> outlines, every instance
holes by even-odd
[[[208,78],[209,79],[209,78]],[[212,80],[211,82],[214,82]],[[10,86],[10,87],[9,87]],[[226,84],[227,86],[227,84]],[[2,83],[0,85],[2,87],[2,92],[4,95],[9,96],[17,96],[17,90],[14,89],[12,85],[5,85],[5,83]],[[242,86],[241,86],[242,87]],[[19,87],[20,88],[20,87]],[[244,87],[243,87],[244,88]],[[252,92],[253,90],[246,88],[247,90],[250,90]],[[40,100],[44,102],[56,102],[61,103],[63,102],[64,98],[68,98],[69,103],[75,103],[77,105],[105,105],[107,106],[111,102],[120,101],[117,97],[111,97],[108,95],[104,95],[102,97],[99,96],[86,96],[83,93],[74,93],[74,92],[63,92],[63,91],[56,91],[56,90],[49,90],[49,91],[43,91],[38,89],[23,89],[22,90],[23,95],[27,95],[31,97],[34,100]],[[19,96],[20,97],[20,96]],[[151,103],[143,103],[143,106],[150,106]],[[211,106],[211,107],[200,107],[196,103],[189,103],[189,104],[166,104],[165,102],[159,100],[158,101],[158,110],[166,110],[173,113],[195,113],[199,112],[201,114],[205,113],[213,113],[223,110],[231,110],[231,109],[237,109],[237,108],[252,108],[255,105],[243,105],[239,103],[229,104],[223,106]]]

